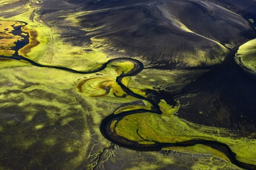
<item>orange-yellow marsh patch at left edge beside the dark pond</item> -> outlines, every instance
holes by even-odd
[[[23,37],[12,34],[12,31],[15,30],[14,27],[24,25],[24,23],[20,22],[0,20],[0,55],[12,56],[15,53],[15,51],[12,50],[12,47],[15,46],[15,42],[22,40]]]

